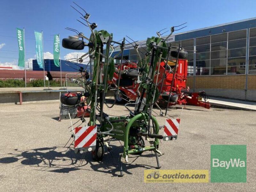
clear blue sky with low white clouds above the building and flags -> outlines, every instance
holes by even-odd
[[[89,21],[97,23],[97,30],[104,29],[113,33],[115,41],[126,35],[135,41],[145,40],[156,36],[156,31],[185,22],[188,22],[187,27],[179,32],[256,17],[256,0],[75,2],[91,14]],[[76,20],[81,15],[70,5],[76,6],[71,0],[1,0],[0,66],[23,69],[17,66],[19,54],[16,28],[25,28],[26,61],[30,63],[30,68],[36,55],[35,30],[43,31],[44,34],[44,59],[53,59],[53,35],[60,34],[60,39],[75,35],[65,27],[75,28],[89,37],[90,29]],[[79,52],[61,48],[61,59],[71,59],[87,51],[87,47]]]

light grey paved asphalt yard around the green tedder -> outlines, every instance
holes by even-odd
[[[155,109],[156,112],[158,110]],[[105,111],[124,115],[116,105]],[[174,107],[170,116],[179,117]],[[161,169],[208,169],[212,144],[247,145],[247,183],[144,183],[143,171],[155,170],[151,152],[131,155],[119,174],[120,143],[110,143],[112,153],[102,162],[93,162],[91,154],[74,154],[63,148],[71,132],[69,120],[58,122],[59,103],[0,106],[0,191],[256,191],[256,113],[253,111],[183,109],[178,140],[162,142]],[[164,117],[158,116],[160,125]],[[73,121],[75,122],[75,120]],[[123,143],[122,143],[123,144]]]

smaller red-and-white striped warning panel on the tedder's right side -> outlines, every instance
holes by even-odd
[[[180,126],[180,119],[166,119],[163,140],[176,140]]]

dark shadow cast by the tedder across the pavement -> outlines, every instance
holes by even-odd
[[[111,151],[105,152],[104,159],[101,162],[92,160],[90,152],[84,154],[75,154],[71,148],[59,147],[45,147],[35,149],[13,149],[12,153],[6,154],[6,157],[0,158],[1,164],[15,164],[13,168],[20,168],[23,166],[31,166],[33,170],[48,171],[56,173],[68,173],[71,171],[87,170],[97,171],[118,176],[120,172],[118,158],[122,153],[122,146],[110,145]],[[113,152],[114,151],[114,152]],[[154,156],[151,153],[140,155],[142,157]],[[123,164],[123,170],[127,174],[132,174],[128,170],[142,167],[143,169],[151,169],[153,166],[136,164],[135,161],[139,156],[131,156],[128,164]],[[17,165],[17,163],[19,163]]]

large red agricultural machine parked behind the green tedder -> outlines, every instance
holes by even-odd
[[[161,90],[160,85],[164,81],[162,92],[156,104],[159,107],[166,107],[172,105],[194,105],[209,109],[210,104],[207,102],[208,95],[203,92],[189,92],[189,87],[187,87],[187,68],[188,61],[186,59],[178,59],[178,65],[175,69],[175,61],[168,61],[167,70],[164,74],[164,69],[166,61],[160,63],[158,81],[159,90]],[[119,65],[116,65],[116,71],[119,70]],[[136,63],[126,61],[122,64],[121,70],[123,74],[120,78],[119,94],[117,97],[117,103],[127,103],[130,100],[136,100],[138,97],[138,88],[140,84],[140,79],[135,78],[136,74],[138,76],[138,69]],[[173,77],[173,74],[174,77]],[[157,74],[154,76],[154,83],[156,83]],[[118,73],[114,73],[114,77],[109,81],[110,88],[115,89],[118,80]],[[171,89],[172,87],[172,89]],[[171,91],[171,93],[170,93]],[[169,97],[170,95],[170,97]],[[170,98],[168,103],[168,98]],[[204,99],[204,101],[202,100]]]

